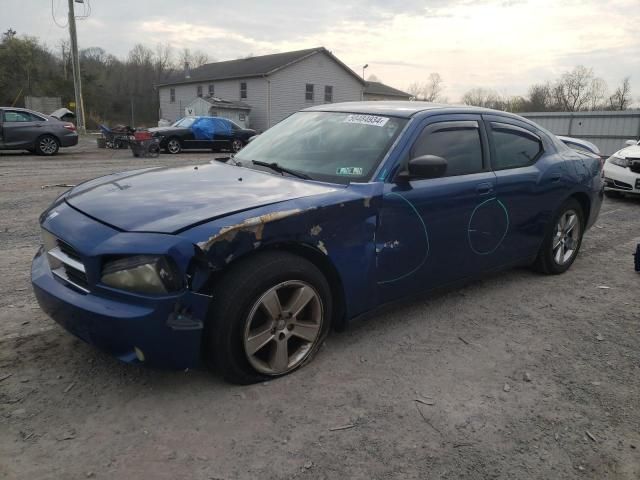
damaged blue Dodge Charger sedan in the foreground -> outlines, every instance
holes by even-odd
[[[598,159],[516,115],[421,102],[298,112],[226,163],[88,181],[41,218],[42,309],[127,362],[250,383],[331,327],[487,271],[566,271]]]

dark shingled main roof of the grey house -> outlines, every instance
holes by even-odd
[[[190,72],[190,77],[185,78],[184,72],[176,72],[166,81],[156,86],[178,85],[183,83],[208,82],[212,80],[227,80],[234,78],[262,77],[271,75],[289,65],[303,60],[317,53],[326,53],[335,60],[350,75],[362,79],[353,70],[336,58],[324,47],[308,48],[306,50],[296,50],[293,52],[274,53],[271,55],[261,55],[259,57],[241,58],[238,60],[228,60],[225,62],[207,63],[194,68]]]

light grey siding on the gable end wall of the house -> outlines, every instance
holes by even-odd
[[[316,53],[269,76],[271,125],[303,108],[323,105],[325,85],[333,86],[333,102],[357,102],[363,85],[324,52]],[[313,101],[305,99],[305,88],[314,85]]]

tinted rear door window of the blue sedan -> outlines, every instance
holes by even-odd
[[[542,142],[524,128],[505,123],[491,123],[495,155],[491,162],[494,170],[526,167],[542,154]]]

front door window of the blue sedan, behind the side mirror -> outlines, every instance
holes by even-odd
[[[476,121],[440,122],[428,125],[411,151],[411,158],[435,155],[447,161],[446,177],[483,170],[482,142]]]

